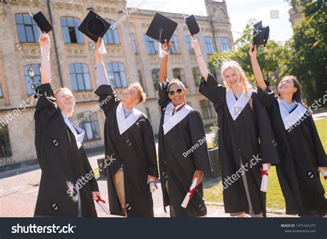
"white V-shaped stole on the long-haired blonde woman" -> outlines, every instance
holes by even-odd
[[[248,90],[248,96],[246,96],[245,92],[243,92],[241,96],[239,96],[239,98],[236,100],[232,90],[226,90],[226,102],[228,110],[234,121],[237,119],[239,114],[241,114],[251,96],[252,90]]]

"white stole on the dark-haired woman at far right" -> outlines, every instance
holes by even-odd
[[[286,130],[290,127],[293,127],[293,125],[295,125],[302,118],[302,116],[306,114],[306,107],[298,102],[295,102],[297,107],[295,110],[293,110],[293,112],[289,114],[284,105],[282,105],[281,100],[277,98],[277,101],[279,104],[279,111],[281,112],[281,118],[283,119],[284,127]]]

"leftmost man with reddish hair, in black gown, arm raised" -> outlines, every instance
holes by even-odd
[[[41,182],[34,216],[96,217],[93,200],[100,196],[97,180],[81,145],[83,129],[70,123],[74,96],[68,88],[51,87],[50,39],[40,34],[41,85],[35,120],[35,147]]]

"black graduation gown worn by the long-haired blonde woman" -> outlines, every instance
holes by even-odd
[[[226,102],[226,87],[219,85],[211,74],[208,81],[201,79],[199,92],[206,96],[215,106],[218,116],[219,158],[223,185],[228,185],[226,178],[231,177],[242,165],[244,170],[252,208],[255,215],[263,212],[266,216],[266,193],[260,190],[260,168],[263,163],[279,163],[277,149],[274,145],[273,129],[270,127],[268,114],[259,101],[257,92],[252,92],[252,107],[248,102],[239,116],[233,121]],[[254,163],[259,155],[261,161]],[[251,160],[253,164],[251,164]],[[250,167],[250,165],[253,165]],[[249,214],[248,200],[242,179],[239,178],[228,187],[224,187],[224,207],[226,213],[245,211]]]

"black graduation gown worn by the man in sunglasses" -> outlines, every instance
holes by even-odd
[[[161,121],[159,125],[159,169],[162,193],[164,194],[164,210],[170,205],[172,217],[199,217],[207,214],[204,204],[203,184],[192,195],[186,209],[181,207],[190,185],[195,170],[211,171],[206,134],[201,115],[196,110],[182,119],[175,127],[164,134],[164,113],[168,103],[167,87],[159,89],[159,105],[161,106]],[[197,145],[192,154],[186,152]],[[168,192],[166,181],[168,180]],[[169,193],[169,195],[168,195]]]

